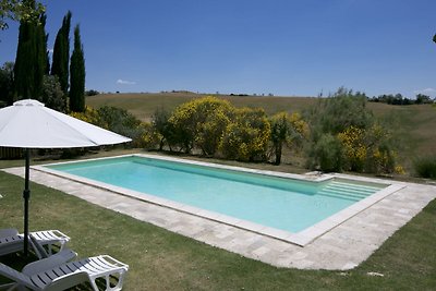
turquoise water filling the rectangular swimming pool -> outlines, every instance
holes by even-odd
[[[135,156],[47,167],[290,232],[386,186],[337,179],[307,182]]]

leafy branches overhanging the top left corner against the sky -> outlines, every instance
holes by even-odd
[[[26,0],[0,0],[0,29],[9,27],[7,20],[38,22],[39,16],[46,11],[46,8],[36,2],[35,5],[26,4]],[[31,1],[32,2],[32,1]],[[35,2],[35,1],[33,1]]]

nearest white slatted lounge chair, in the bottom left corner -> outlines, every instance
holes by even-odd
[[[64,248],[62,252],[48,258],[36,260],[26,265],[20,272],[4,264],[0,263],[0,276],[4,276],[14,281],[9,283],[10,290],[44,290],[58,291],[89,282],[95,291],[98,291],[96,279],[105,278],[104,284],[107,291],[117,291],[122,289],[124,276],[129,266],[108,255],[88,257],[81,260],[65,263],[74,252]],[[118,279],[113,286],[110,282]],[[98,284],[101,284],[99,282]]]

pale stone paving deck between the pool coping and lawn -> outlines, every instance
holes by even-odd
[[[3,171],[24,177],[23,167],[3,169]],[[338,177],[352,178],[350,175]],[[322,234],[305,246],[298,246],[36,169],[31,170],[31,180],[245,257],[277,267],[299,269],[346,270],[354,268],[377,250],[395,231],[419,214],[432,199],[436,198],[436,186],[384,181],[397,184],[401,189]],[[365,180],[383,181],[366,178]]]

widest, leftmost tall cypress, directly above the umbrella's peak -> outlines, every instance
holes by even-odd
[[[35,7],[35,1],[23,2]],[[22,21],[19,33],[14,76],[17,98],[39,99],[43,88],[43,76],[47,71],[47,35],[46,16],[38,21]]]

